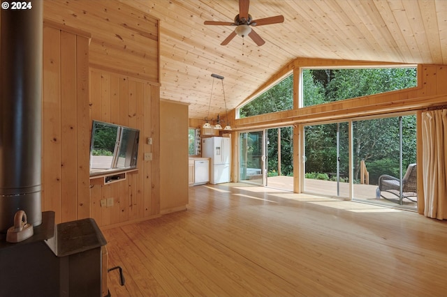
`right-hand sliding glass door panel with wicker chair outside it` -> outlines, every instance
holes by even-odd
[[[416,116],[353,121],[355,199],[416,207]]]

